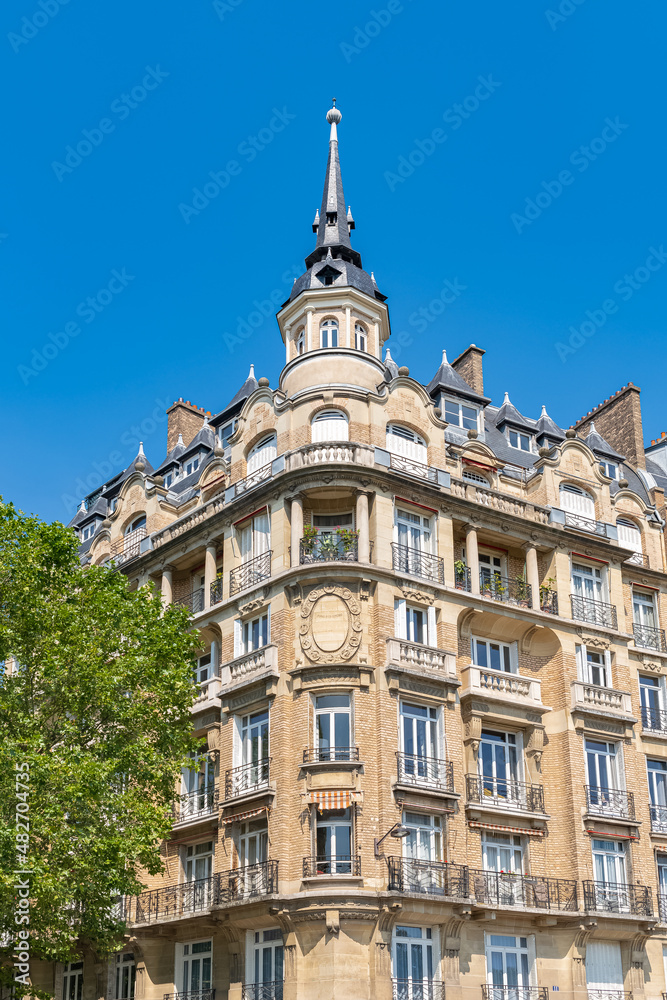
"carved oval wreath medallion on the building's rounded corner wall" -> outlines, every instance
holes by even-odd
[[[361,644],[359,602],[348,587],[333,583],[311,590],[301,605],[299,640],[311,663],[350,660]]]

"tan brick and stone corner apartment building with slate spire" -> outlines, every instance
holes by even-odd
[[[277,385],[178,400],[82,558],[189,607],[201,754],[126,950],[62,1000],[662,1000],[667,438],[562,429],[484,351],[398,367],[334,107]],[[434,368],[437,362],[434,363]],[[51,982],[51,980],[49,980]]]

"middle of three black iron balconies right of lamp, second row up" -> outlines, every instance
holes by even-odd
[[[515,875],[470,869],[470,891],[480,906],[527,906],[537,910],[578,910],[573,879]]]

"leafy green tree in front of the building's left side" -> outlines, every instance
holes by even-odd
[[[62,524],[0,499],[5,979],[20,866],[32,871],[35,958],[66,962],[82,944],[100,955],[120,945],[113,901],[140,892],[143,873],[162,870],[175,782],[196,748],[189,710],[198,639],[187,612],[163,609],[152,587],[130,590],[113,568],[81,567],[77,550]],[[15,824],[17,765],[29,774],[25,855]]]

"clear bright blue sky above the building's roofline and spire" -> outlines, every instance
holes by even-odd
[[[237,331],[313,245],[332,96],[411,374],[476,343],[495,402],[569,425],[633,381],[646,439],[667,429],[658,4],[5,0],[0,21],[0,489],[24,510],[67,520],[137,436],[160,461],[179,396],[215,412],[251,362],[276,385],[275,319]]]

